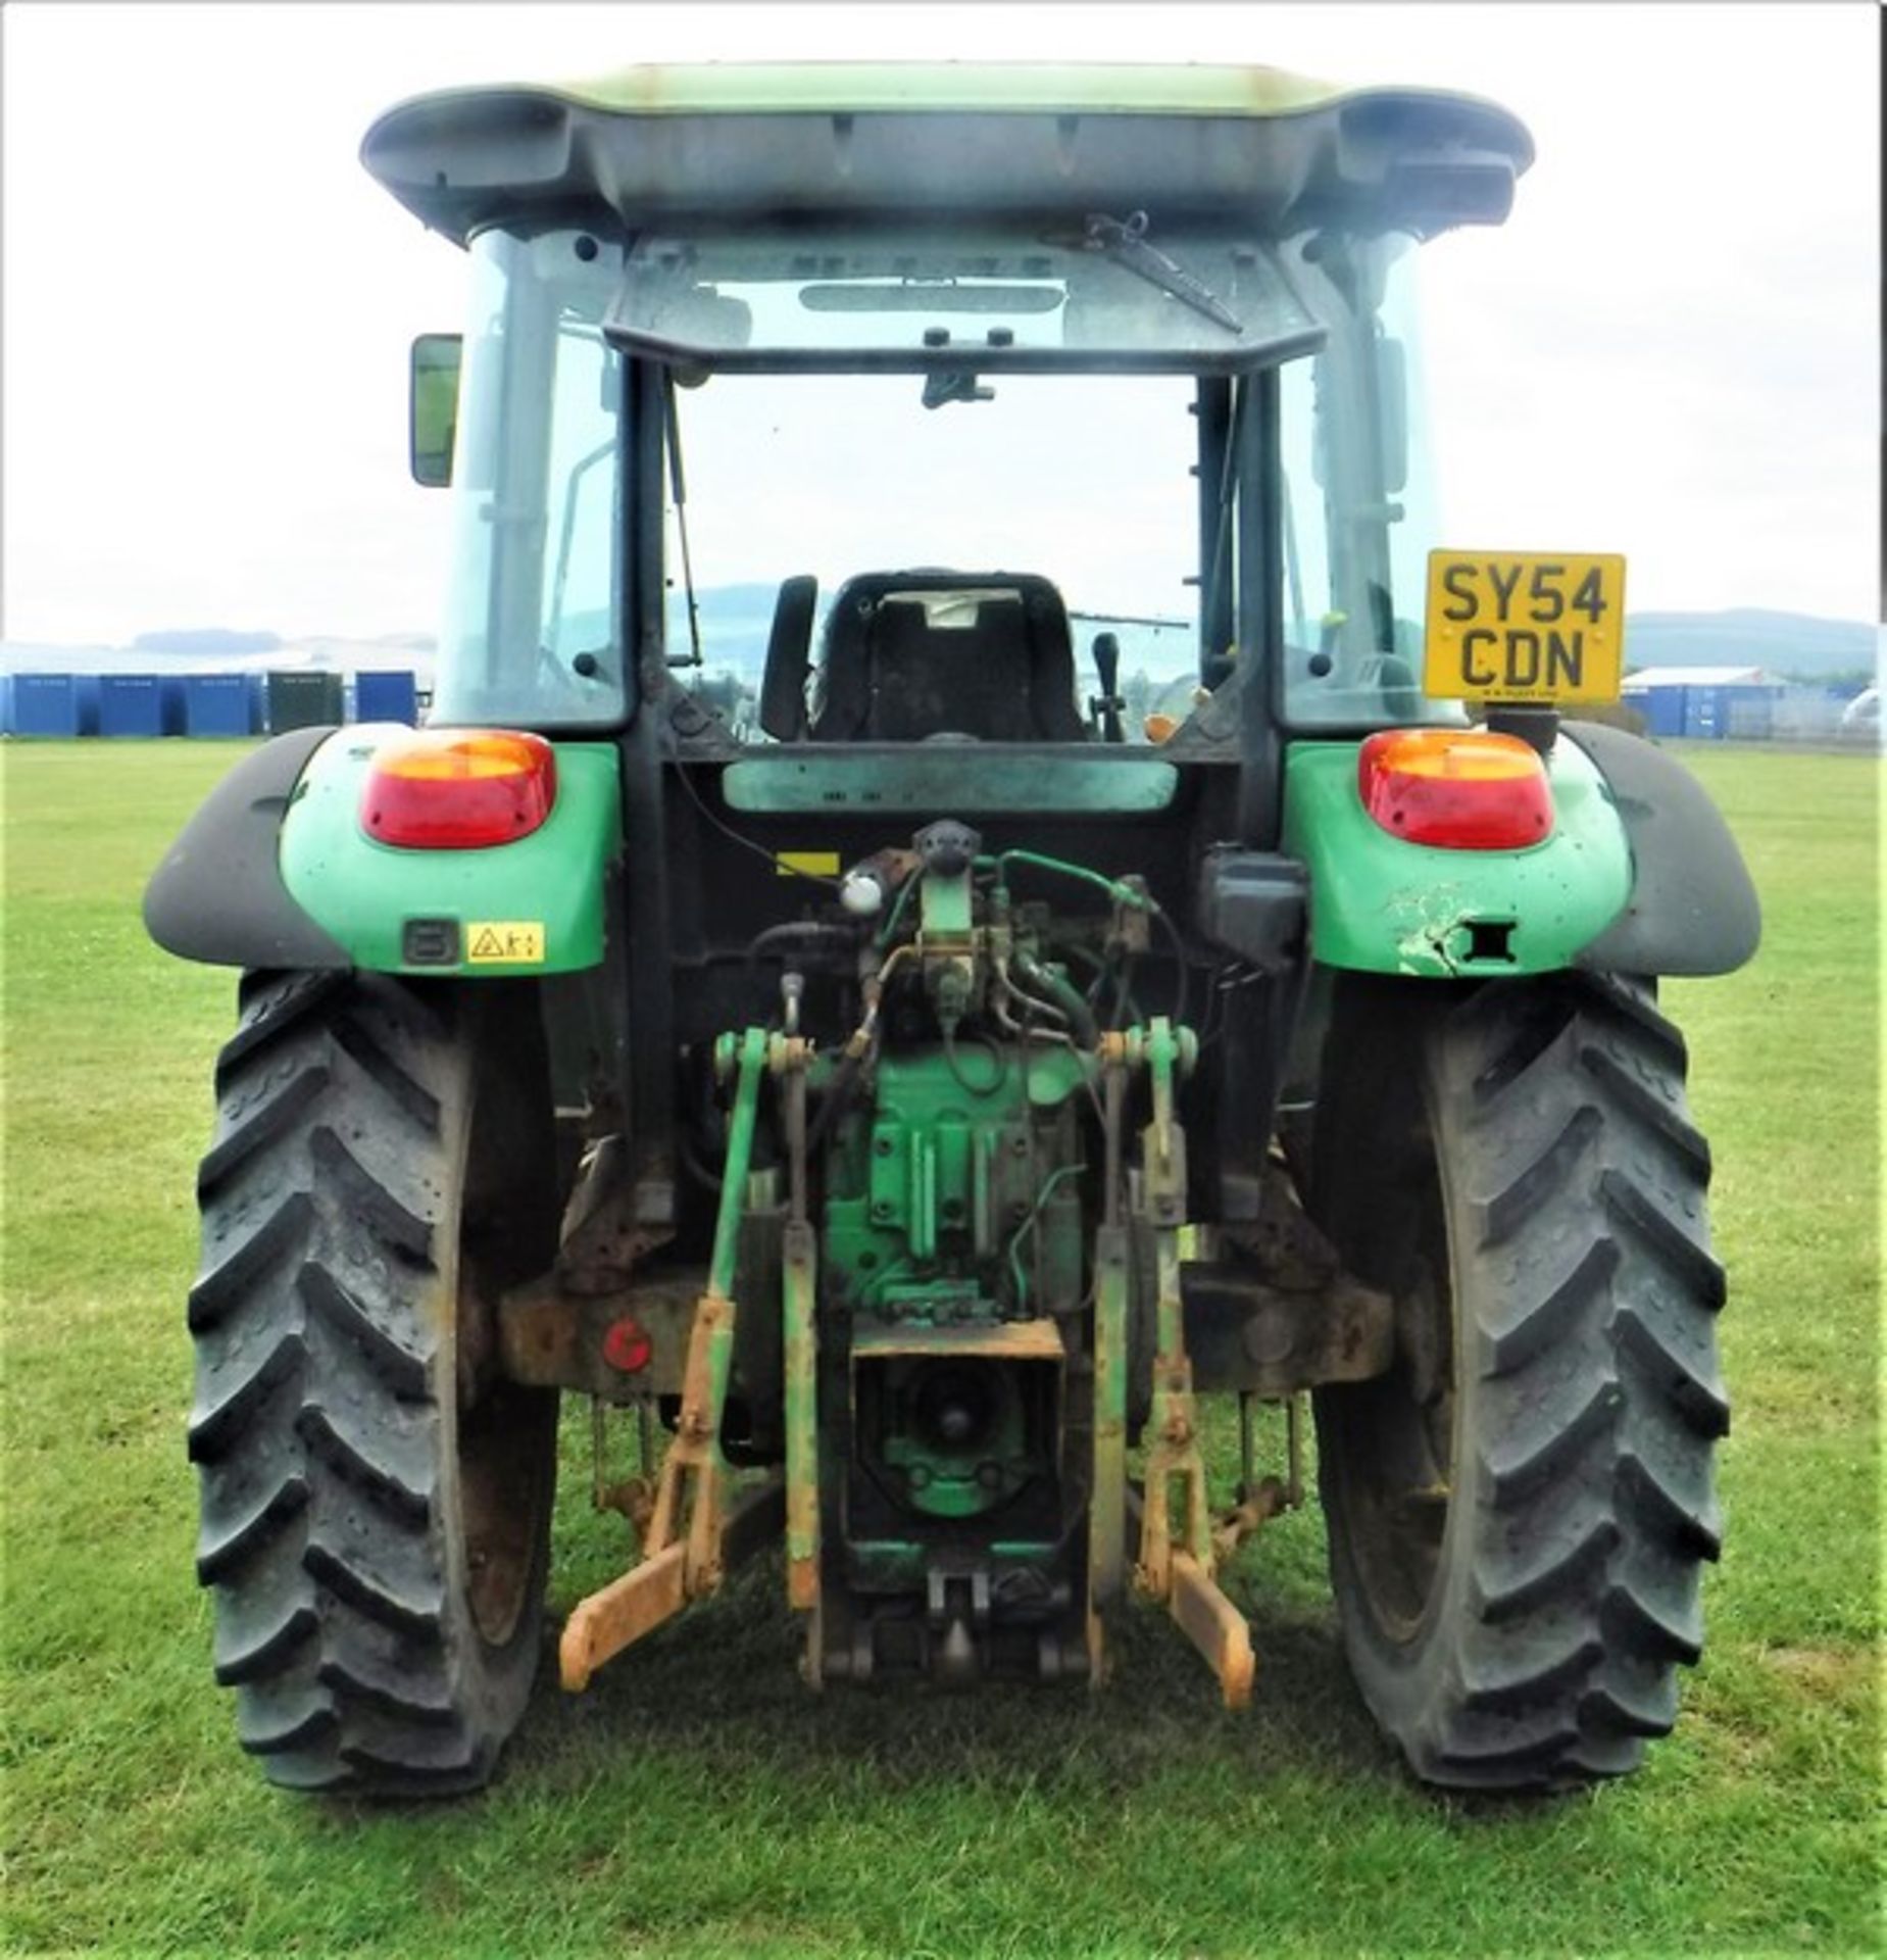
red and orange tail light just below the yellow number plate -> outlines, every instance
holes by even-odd
[[[1393,837],[1450,851],[1521,851],[1552,835],[1546,764],[1519,735],[1385,729],[1356,759],[1364,809]]]

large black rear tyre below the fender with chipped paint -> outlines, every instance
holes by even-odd
[[[1356,982],[1313,1209],[1395,1298],[1391,1372],[1317,1392],[1350,1668],[1419,1778],[1558,1789],[1675,1717],[1717,1558],[1722,1268],[1685,1051],[1638,982]]]

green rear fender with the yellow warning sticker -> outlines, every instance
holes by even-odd
[[[380,743],[404,733],[343,729],[308,759],[280,827],[282,884],[296,906],[368,972],[504,978],[598,966],[605,872],[621,851],[615,749],[556,743],[556,802],[529,837],[402,851],[361,829],[361,790]],[[413,951],[435,956],[413,960]]]

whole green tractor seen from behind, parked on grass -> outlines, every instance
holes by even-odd
[[[1236,1707],[1313,1419],[1419,1778],[1671,1727],[1728,1405],[1656,984],[1758,909],[1677,762],[1562,719],[1622,563],[1436,549],[1415,247],[1528,161],[1262,69],[372,127],[470,261],[431,713],[261,745],[145,907],[243,970],[190,1454],[270,1780],[490,1778],[562,1394],[635,1527],[566,1690],[784,1539],[811,1688],[1099,1688],[1140,1601]]]

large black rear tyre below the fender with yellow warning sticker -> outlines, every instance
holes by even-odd
[[[556,1476],[556,1394],[494,1366],[498,1294],[555,1256],[535,1004],[247,974],[216,1090],[190,1456],[237,1737],[290,1788],[474,1789],[537,1672]]]

